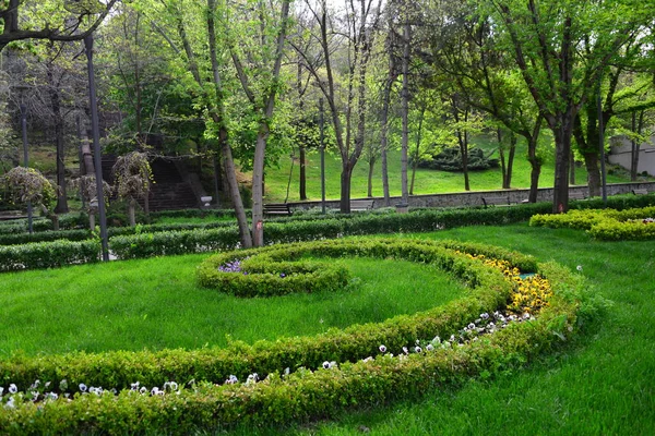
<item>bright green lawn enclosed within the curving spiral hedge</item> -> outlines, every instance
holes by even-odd
[[[408,262],[344,259],[344,293],[237,299],[195,284],[206,255],[2,275],[0,356],[73,350],[195,349],[381,322],[461,296],[445,275]],[[326,259],[325,262],[334,262]]]

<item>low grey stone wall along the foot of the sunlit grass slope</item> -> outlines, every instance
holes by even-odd
[[[630,194],[632,190],[645,189],[648,192],[655,192],[655,182],[635,182],[635,183],[612,183],[607,185],[607,195]],[[409,196],[409,207],[458,207],[458,206],[483,206],[483,197],[509,195],[511,203],[521,203],[527,199],[529,190],[500,190],[500,191],[472,191],[444,194],[422,194]],[[587,185],[576,185],[569,187],[569,193],[583,193],[588,196]],[[384,207],[383,197],[353,198],[353,199],[374,199],[374,208]],[[541,187],[538,190],[537,202],[552,202],[552,187]],[[401,203],[400,196],[391,197],[391,206]],[[290,202],[289,206],[295,209],[320,208],[321,202]],[[338,201],[330,199],[325,202],[327,209],[338,209]]]

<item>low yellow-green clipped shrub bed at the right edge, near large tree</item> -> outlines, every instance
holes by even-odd
[[[594,209],[570,210],[561,215],[535,215],[529,225],[534,227],[586,230],[602,241],[650,240],[655,239],[655,207],[626,210]]]

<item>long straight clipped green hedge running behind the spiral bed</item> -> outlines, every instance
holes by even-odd
[[[608,204],[617,209],[633,205],[654,205],[655,195],[617,196],[608,198]],[[571,208],[599,208],[602,199],[571,202]],[[312,241],[338,238],[342,235],[424,232],[462,226],[495,226],[528,220],[535,214],[548,214],[549,203],[519,205],[515,207],[468,208],[468,209],[418,209],[409,214],[357,214],[355,216],[332,216],[331,218],[307,215],[293,219],[267,220],[264,238],[269,244],[282,242]],[[171,227],[172,226],[172,227]],[[202,225],[141,226],[136,229],[111,229],[109,250],[118,259],[143,258],[176,254],[190,254],[239,247],[240,238],[236,226],[217,222]],[[178,229],[166,230],[163,229]],[[39,249],[41,250],[41,249]],[[75,250],[71,245],[70,250]],[[21,259],[11,257],[12,251],[0,256],[0,271],[24,269]],[[24,254],[22,255],[24,256]],[[86,255],[80,253],[78,257]],[[99,257],[99,252],[97,254]],[[21,257],[23,258],[23,257]],[[80,262],[80,261],[78,261]],[[44,259],[39,266],[48,268],[62,263]]]

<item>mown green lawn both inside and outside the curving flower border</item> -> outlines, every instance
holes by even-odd
[[[526,225],[460,228],[398,238],[484,242],[533,254],[541,262],[555,259],[571,270],[580,265],[594,291],[614,304],[597,322],[586,325],[577,340],[562,343],[526,368],[492,379],[468,380],[458,389],[344,412],[332,421],[287,428],[237,428],[231,434],[655,434],[655,243],[597,242],[582,231]],[[391,261],[347,261],[362,287],[349,291],[346,298],[330,294],[236,300],[192,286],[192,269],[202,257],[3,275],[0,352],[17,348],[28,353],[61,352],[80,347],[75,341],[107,349],[105,341],[121,335],[126,336],[123,343],[110,347],[168,347],[172,342],[162,337],[165,334],[186,337],[186,343],[174,346],[189,348],[205,341],[221,343],[227,330],[247,341],[310,335],[327,325],[377,320],[396,311],[433,305],[431,290],[444,289],[441,279],[428,282],[430,271],[421,266],[403,265],[398,274],[397,263]],[[369,280],[373,288],[367,291],[364,284]],[[395,293],[384,301],[381,293],[374,293],[390,283],[404,287],[407,282],[418,288],[408,292],[390,290],[390,295]],[[420,289],[427,289],[427,296],[422,296],[426,300],[410,307],[415,299],[420,299]],[[60,317],[51,322],[52,316]],[[126,326],[119,327],[123,322]],[[92,341],[91,331],[105,336]]]

